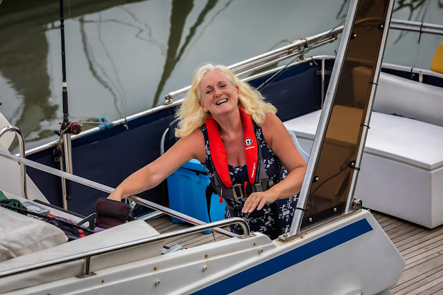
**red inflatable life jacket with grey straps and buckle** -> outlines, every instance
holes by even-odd
[[[222,202],[221,198],[243,198],[247,196],[247,187],[250,188],[248,191],[251,193],[255,191],[266,191],[274,184],[273,179],[269,178],[264,169],[262,149],[255,137],[255,126],[252,117],[245,113],[243,108],[239,108],[239,112],[243,124],[244,153],[246,155],[246,168],[249,178],[249,182],[245,182],[244,184],[235,184],[234,186],[231,184],[226,149],[224,148],[223,142],[221,142],[219,126],[213,117],[208,117],[206,120],[210,158],[214,171],[215,183],[213,183],[213,189],[219,194],[220,202]],[[278,173],[278,175],[280,175],[280,173]]]

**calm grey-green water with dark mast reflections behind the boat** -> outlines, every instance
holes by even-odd
[[[188,86],[205,62],[230,65],[345,19],[348,1],[64,1],[70,120],[117,120]],[[394,19],[443,24],[443,1],[397,1]],[[392,30],[384,61],[428,69],[442,36]],[[62,122],[59,1],[0,5],[0,112],[26,149]],[[309,55],[331,54],[338,42]],[[86,126],[84,126],[86,127]],[[17,147],[13,148],[17,151]]]

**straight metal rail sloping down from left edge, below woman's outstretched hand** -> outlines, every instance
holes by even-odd
[[[15,162],[19,162],[20,164],[24,164],[26,166],[30,166],[33,167],[35,169],[38,169],[40,171],[44,171],[46,173],[50,173],[56,176],[59,176],[61,178],[66,178],[69,180],[72,180],[73,182],[78,182],[80,184],[86,185],[87,187],[92,187],[93,189],[98,189],[100,191],[105,191],[106,193],[111,193],[112,191],[114,191],[114,188],[112,187],[107,187],[104,184],[100,184],[98,182],[94,182],[92,180],[88,180],[86,178],[82,178],[80,176],[71,174],[71,173],[66,173],[64,171],[60,171],[57,169],[54,169],[52,167],[46,166],[44,164],[40,164],[37,162],[34,162],[32,160],[28,160],[26,158],[21,158],[21,157],[17,157],[17,155],[11,155],[10,153],[5,153],[3,151],[0,151],[0,156],[3,158],[8,158],[10,160],[14,160]],[[142,198],[138,198],[136,196],[131,196],[129,197],[129,200],[133,200],[134,202],[137,202],[138,204],[142,204],[146,207],[150,207],[151,209],[155,209],[161,212],[164,212],[170,216],[174,216],[176,218],[180,218],[181,220],[185,220],[187,222],[192,223],[193,225],[206,225],[206,222],[203,222],[201,220],[198,220],[197,218],[193,218],[191,216],[187,216],[186,214],[180,213],[178,211],[163,207],[159,204],[156,204],[154,202],[142,199]],[[225,236],[230,236],[230,237],[236,237],[238,236],[237,234],[234,234],[230,231],[226,231],[225,229],[219,229],[219,228],[215,228],[213,229],[214,231],[218,232],[219,234],[224,234]]]

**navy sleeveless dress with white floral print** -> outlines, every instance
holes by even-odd
[[[213,165],[210,161],[210,150],[209,150],[209,140],[208,140],[208,132],[206,131],[206,126],[201,127],[201,131],[204,134],[205,138],[205,148],[206,148],[206,162],[204,166],[208,171],[208,176],[213,181],[214,172]],[[255,136],[257,137],[257,142],[260,144],[260,149],[262,149],[262,157],[264,162],[264,168],[266,170],[266,174],[269,178],[274,178],[280,170],[280,160],[278,160],[277,156],[274,155],[273,151],[264,141],[262,136],[262,129],[259,127],[255,129]],[[244,184],[244,182],[248,182],[248,171],[246,169],[246,164],[242,166],[230,166],[228,165],[229,174],[230,174],[230,182],[231,184]],[[284,179],[287,175],[287,170],[282,167],[281,169],[280,180]],[[232,217],[240,217],[243,218],[246,222],[248,222],[249,228],[251,231],[259,231],[263,234],[266,234],[271,239],[278,238],[278,234],[285,233],[289,231],[291,227],[291,222],[293,218],[293,213],[296,209],[298,201],[298,195],[277,200],[277,211],[278,211],[278,222],[275,222],[274,216],[271,209],[271,204],[265,204],[264,207],[260,210],[254,210],[251,213],[242,213],[242,208],[244,202],[246,202],[246,197],[235,199],[225,199],[226,209],[224,212],[225,218]],[[276,225],[280,225],[280,231],[277,230]],[[239,225],[230,225],[230,231],[236,234],[243,234],[242,227]]]

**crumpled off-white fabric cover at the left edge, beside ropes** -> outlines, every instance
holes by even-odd
[[[67,242],[54,225],[0,207],[0,262]]]

